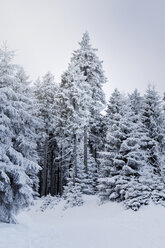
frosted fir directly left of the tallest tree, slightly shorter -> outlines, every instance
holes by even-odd
[[[84,127],[88,126],[89,123],[88,84],[85,79],[86,77],[80,71],[80,68],[74,62],[71,62],[68,70],[62,75],[58,95],[61,102],[61,112],[59,124],[57,125],[57,132],[61,134],[59,138],[62,140],[63,150],[67,154],[67,156],[63,154],[63,158],[61,158],[66,175],[64,179],[67,181],[69,169],[72,168],[73,184],[79,183],[84,185],[86,174],[83,166],[84,147],[82,140]],[[91,162],[92,158],[89,152],[87,156]],[[88,192],[92,191],[92,185],[91,183],[90,187],[89,183],[86,184],[85,188],[88,188]]]

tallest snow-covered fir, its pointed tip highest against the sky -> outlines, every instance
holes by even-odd
[[[100,149],[102,141],[100,139],[101,114],[105,106],[105,95],[102,89],[106,82],[104,76],[102,61],[96,55],[97,49],[90,45],[88,32],[83,34],[79,43],[80,48],[74,51],[71,62],[77,65],[85,76],[85,82],[88,86],[89,98],[89,124],[84,127],[84,167],[88,175],[88,149],[92,156],[97,159],[97,152]]]

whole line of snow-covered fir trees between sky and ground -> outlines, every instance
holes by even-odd
[[[50,72],[31,84],[0,49],[0,221],[14,222],[37,195],[72,206],[97,193],[133,210],[165,203],[163,99],[153,87],[144,96],[115,89],[106,105],[88,33],[79,45],[59,84]]]

